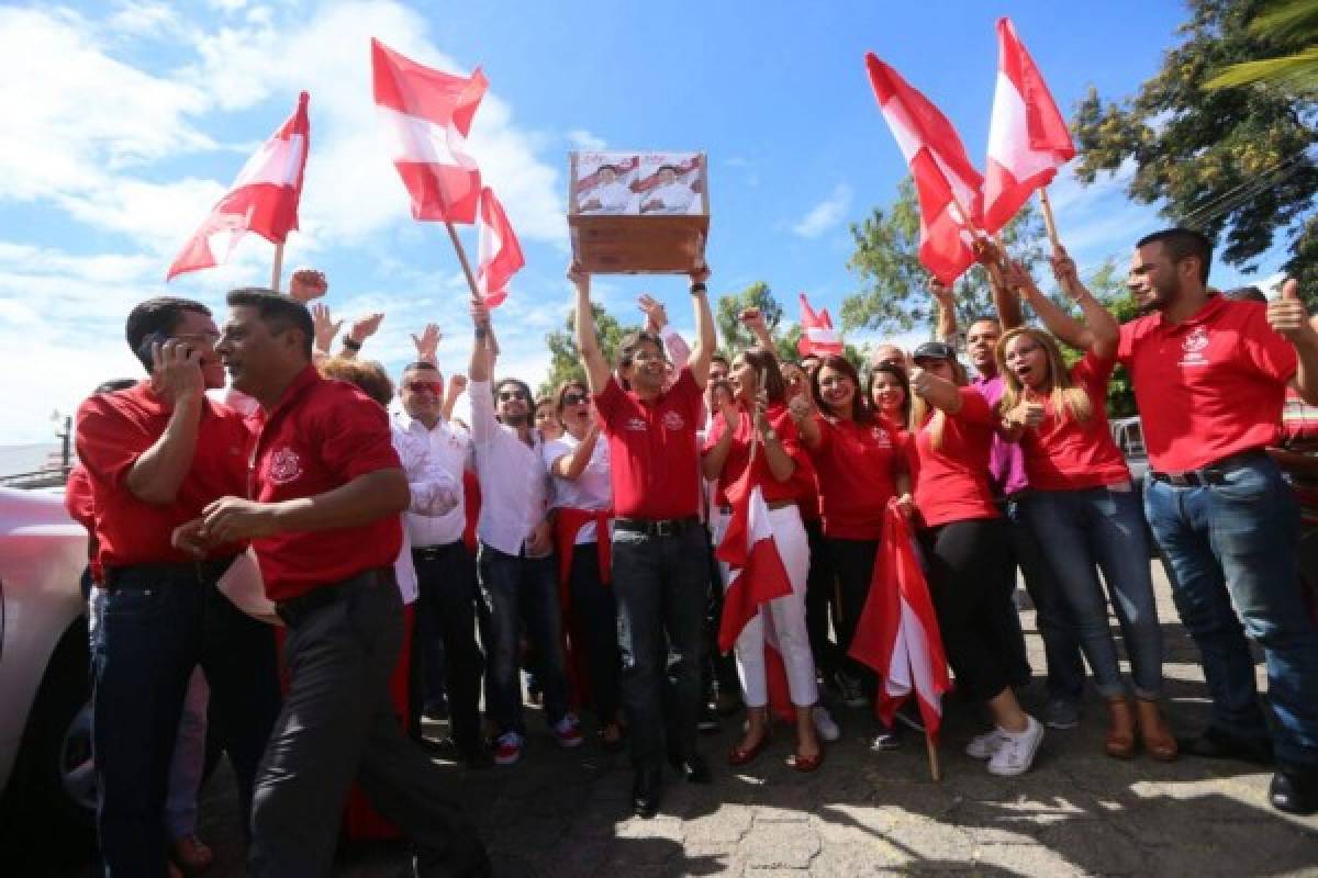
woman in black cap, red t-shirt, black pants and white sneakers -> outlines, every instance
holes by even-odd
[[[941,341],[915,349],[912,425],[920,475],[915,503],[924,527],[929,595],[957,687],[982,700],[994,729],[966,753],[988,771],[1014,775],[1033,762],[1044,727],[1020,708],[1006,667],[1011,649],[994,625],[994,602],[1010,559],[1007,532],[988,486],[988,449],[998,416],[965,366]]]

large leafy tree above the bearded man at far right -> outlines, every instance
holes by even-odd
[[[1190,0],[1181,45],[1133,97],[1104,103],[1094,90],[1075,111],[1081,150],[1075,174],[1133,165],[1128,192],[1157,204],[1170,221],[1224,242],[1222,259],[1249,270],[1288,240],[1285,269],[1310,307],[1318,305],[1318,142],[1313,96],[1278,88],[1210,88],[1224,67],[1273,58],[1294,47],[1251,29],[1257,0]]]

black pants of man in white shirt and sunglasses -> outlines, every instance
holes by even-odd
[[[439,681],[430,681],[428,677],[443,673],[453,742],[459,750],[473,753],[481,748],[481,674],[485,667],[476,645],[476,604],[480,600],[476,562],[459,540],[443,546],[413,549],[413,563],[419,592],[414,640],[422,658],[420,667],[413,665],[413,673],[419,671],[424,681],[414,687],[413,712],[419,717],[423,699],[416,696],[416,690],[434,691],[431,683]],[[438,669],[426,659],[436,640],[444,645],[444,662]]]

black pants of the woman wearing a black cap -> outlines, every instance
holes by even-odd
[[[950,521],[920,532],[929,595],[957,684],[975,700],[1012,683],[1010,648],[994,616],[1008,561],[1002,519]]]

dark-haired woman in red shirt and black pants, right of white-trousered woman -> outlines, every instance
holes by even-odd
[[[811,394],[817,413],[793,405],[792,415],[815,463],[824,541],[837,574],[837,682],[849,706],[863,707],[878,681],[847,653],[870,594],[883,512],[894,496],[903,495],[909,503],[911,483],[894,430],[867,404],[855,367],[846,358],[825,357],[811,376]],[[895,745],[890,732],[875,738],[880,749]]]

